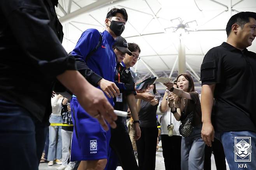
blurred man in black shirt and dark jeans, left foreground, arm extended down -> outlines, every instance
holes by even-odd
[[[58,0],[0,1],[1,169],[38,169],[56,78],[106,130],[103,118],[116,126],[103,92],[76,71],[61,46],[57,5]]]

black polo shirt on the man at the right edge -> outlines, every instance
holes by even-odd
[[[216,84],[212,123],[216,131],[256,132],[256,54],[223,42],[207,52],[202,85]]]

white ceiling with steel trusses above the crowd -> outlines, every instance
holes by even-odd
[[[86,29],[103,31],[107,12],[113,7],[127,10],[128,22],[122,36],[127,42],[140,45],[141,59],[133,67],[139,79],[174,79],[182,40],[186,70],[193,76],[196,90],[201,91],[199,77],[204,55],[226,41],[226,23],[232,15],[256,12],[256,0],[59,0],[56,12],[63,24],[63,46],[67,52],[74,49]],[[179,24],[186,26],[182,36],[176,30]],[[256,52],[256,43],[248,50]],[[165,89],[161,84],[157,88]]]

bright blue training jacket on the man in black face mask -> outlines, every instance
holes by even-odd
[[[105,80],[114,82],[116,71],[116,54],[112,49],[114,38],[107,31],[103,31],[102,45],[87,60],[86,56],[95,49],[99,42],[100,34],[97,29],[87,29],[79,38],[72,55],[86,61],[87,66]],[[100,88],[100,87],[98,87]],[[113,98],[107,97],[110,104],[114,106]]]

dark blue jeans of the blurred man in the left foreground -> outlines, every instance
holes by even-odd
[[[3,170],[38,170],[47,126],[0,97],[0,165]]]

